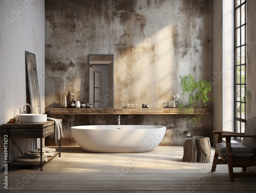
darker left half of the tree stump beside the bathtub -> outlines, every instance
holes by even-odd
[[[182,161],[195,163],[198,158],[198,149],[196,138],[188,138],[183,145],[183,158]]]

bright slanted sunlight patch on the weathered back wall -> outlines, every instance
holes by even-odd
[[[152,108],[160,108],[161,101],[170,99],[170,73],[175,62],[172,37],[172,26],[167,26],[116,58],[114,63],[121,63],[114,67],[117,82],[127,88],[123,93],[130,95],[126,96],[127,102],[144,101]]]

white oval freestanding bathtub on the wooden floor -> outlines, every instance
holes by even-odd
[[[76,142],[88,152],[138,153],[152,151],[163,139],[165,126],[84,125],[72,126]]]

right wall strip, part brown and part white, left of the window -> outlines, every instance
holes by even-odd
[[[234,0],[214,1],[214,131],[233,131],[233,6]],[[214,136],[214,145],[217,135]]]

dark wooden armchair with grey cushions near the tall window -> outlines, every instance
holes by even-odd
[[[218,140],[211,171],[216,170],[217,164],[228,164],[230,182],[234,182],[234,178],[256,178],[256,173],[233,172],[233,167],[246,171],[246,167],[256,166],[256,117],[247,120],[244,133],[212,133],[218,134]],[[231,137],[242,137],[242,143],[230,143]],[[226,138],[226,143],[222,143],[222,138]]]

